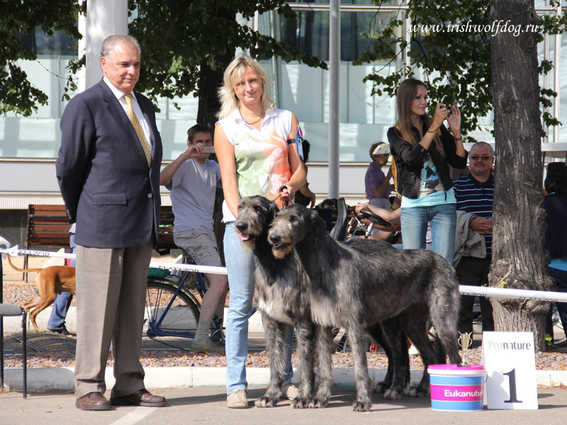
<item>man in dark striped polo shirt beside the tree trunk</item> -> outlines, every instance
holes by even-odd
[[[456,265],[456,274],[461,285],[488,285],[488,272],[492,261],[492,208],[494,197],[494,175],[490,172],[494,163],[494,151],[486,142],[473,145],[468,155],[471,174],[459,177],[453,184],[456,197],[456,209],[466,212],[470,217],[468,229],[484,237],[486,256],[463,256]],[[472,253],[471,253],[472,254]],[[478,255],[478,256],[477,256]],[[459,312],[459,332],[473,331],[473,304],[470,295],[461,296]],[[494,330],[494,319],[490,302],[481,297],[483,331]]]

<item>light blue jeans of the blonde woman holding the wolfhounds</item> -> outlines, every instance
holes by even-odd
[[[246,390],[246,357],[248,355],[248,319],[252,314],[252,297],[254,295],[254,257],[252,251],[245,251],[240,237],[235,231],[235,223],[228,222],[224,237],[225,261],[228,272],[228,288],[230,298],[226,321],[226,392]],[[289,327],[286,335],[286,375],[283,384],[291,381],[291,341],[293,327]]]

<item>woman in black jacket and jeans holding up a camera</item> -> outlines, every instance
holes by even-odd
[[[396,101],[398,122],[388,130],[388,142],[402,196],[403,247],[425,249],[430,223],[433,250],[452,265],[456,199],[449,164],[457,169],[466,166],[461,111],[439,103],[434,117],[427,116],[427,89],[412,78],[402,81]],[[443,125],[446,119],[452,135]]]

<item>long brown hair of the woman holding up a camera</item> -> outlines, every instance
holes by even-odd
[[[423,81],[420,81],[415,78],[405,79],[400,83],[400,86],[398,86],[398,94],[396,97],[396,104],[398,106],[398,122],[395,123],[395,128],[397,128],[398,131],[401,133],[402,139],[408,142],[412,146],[415,146],[420,142],[419,140],[416,140],[416,137],[413,135],[413,132],[411,130],[412,102],[414,101],[415,96],[417,95],[417,87],[419,86],[425,87]],[[429,128],[429,126],[432,123],[432,119],[427,115],[427,113],[425,113],[425,115],[421,117],[421,120],[425,121],[425,123],[427,124],[427,128]],[[439,153],[442,154],[442,156],[444,157],[445,149],[443,149],[441,137],[439,137],[439,135],[440,132],[437,131],[436,134],[434,135],[433,140],[435,142],[435,147],[437,147]]]

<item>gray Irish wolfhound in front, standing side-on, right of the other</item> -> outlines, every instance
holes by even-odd
[[[454,268],[442,256],[425,249],[398,251],[363,239],[340,244],[327,234],[317,213],[302,205],[281,210],[272,222],[268,239],[278,259],[285,259],[295,249],[309,276],[313,321],[322,326],[338,324],[347,331],[357,385],[355,411],[368,411],[371,407],[366,331],[377,335],[384,325],[395,322],[395,317],[420,350],[426,371],[436,358],[427,327],[418,319],[424,314],[437,330],[437,338],[451,363],[461,363],[456,344],[459,283]],[[403,338],[391,334],[400,332],[400,327],[384,330],[383,335],[391,341],[393,358],[403,358]],[[402,363],[394,370],[395,381],[405,380],[395,377],[396,373],[405,373]],[[420,385],[425,380],[428,381],[427,372]]]

